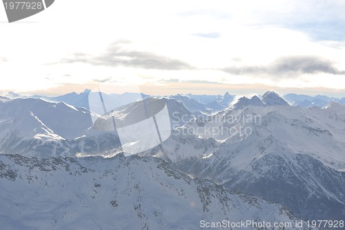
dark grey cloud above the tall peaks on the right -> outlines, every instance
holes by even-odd
[[[288,75],[297,77],[301,74],[329,73],[345,75],[345,70],[335,68],[328,59],[317,56],[287,56],[279,57],[268,66],[242,66],[223,69],[233,75]]]

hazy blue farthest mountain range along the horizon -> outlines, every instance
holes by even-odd
[[[32,96],[23,96],[17,93],[10,92],[5,97],[10,99],[16,98],[37,98],[43,99],[48,102],[65,102],[72,106],[89,108],[88,104],[88,95],[89,93],[97,93],[91,92],[91,90],[84,90],[82,93],[68,93],[66,95],[61,95],[57,97],[47,97],[42,95],[32,95]],[[118,106],[122,106],[124,104],[128,104],[130,102],[136,102],[141,99],[145,99],[148,97],[160,97],[160,96],[152,96],[146,95],[143,93],[123,93],[123,94],[104,94],[106,97],[110,97],[116,100]],[[192,113],[215,113],[217,111],[222,111],[225,108],[228,108],[231,104],[235,103],[234,99],[236,95],[230,95],[229,93],[225,93],[224,95],[193,95],[193,94],[178,94],[178,95],[170,95],[164,96],[168,98],[176,99],[177,102],[182,102],[186,108]],[[324,108],[331,102],[337,102],[339,104],[345,104],[345,97],[337,98],[337,97],[328,97],[325,95],[316,95],[316,96],[309,96],[309,95],[299,95],[295,93],[289,93],[284,95],[282,98],[288,102],[288,104],[292,106],[300,106],[304,108],[311,108],[313,106],[317,106],[319,108]]]

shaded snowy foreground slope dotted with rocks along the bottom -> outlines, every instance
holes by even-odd
[[[154,157],[0,155],[0,191],[2,229],[193,230],[247,220],[308,229],[279,204],[190,178]]]

